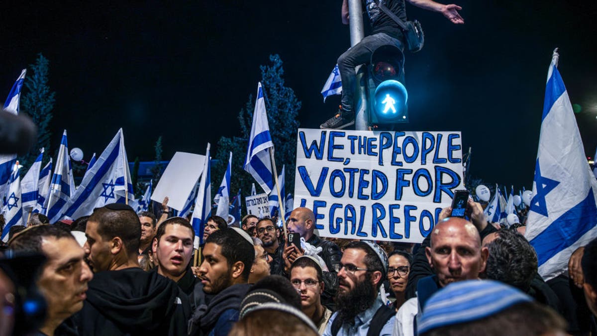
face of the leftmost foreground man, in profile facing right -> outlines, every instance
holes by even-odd
[[[38,286],[52,316],[70,316],[83,307],[87,283],[93,279],[75,239],[44,237],[41,245],[48,258]]]

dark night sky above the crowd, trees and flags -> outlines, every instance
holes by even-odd
[[[10,3],[9,3],[10,2]],[[543,94],[553,48],[587,156],[597,147],[597,2],[467,0],[464,25],[407,4],[425,31],[406,55],[410,124],[401,130],[460,130],[472,146],[472,175],[532,186]],[[572,4],[575,3],[575,4]],[[303,108],[300,127],[318,128],[337,109],[319,93],[350,45],[340,0],[75,1],[0,5],[0,99],[41,52],[56,91],[53,149],[88,160],[124,129],[128,158],[202,154],[207,142],[240,135],[236,116],[255,94],[259,65],[284,61]],[[367,21],[365,21],[367,23]],[[368,27],[367,27],[368,28]],[[236,158],[241,164],[242,158]]]

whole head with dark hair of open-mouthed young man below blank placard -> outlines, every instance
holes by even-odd
[[[158,273],[179,280],[193,256],[195,230],[186,218],[172,217],[159,225],[153,239],[153,250],[158,259]]]

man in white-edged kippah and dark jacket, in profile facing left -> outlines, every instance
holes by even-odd
[[[195,310],[189,335],[228,335],[250,288],[247,280],[255,259],[253,240],[240,228],[224,228],[207,238],[202,254],[199,278],[205,294],[213,297],[207,306]]]

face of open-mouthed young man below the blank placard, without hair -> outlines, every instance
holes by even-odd
[[[154,240],[153,245],[162,273],[178,277],[184,273],[193,255],[193,232],[180,224],[168,224],[164,235],[159,242]]]

